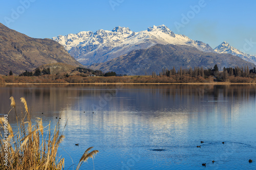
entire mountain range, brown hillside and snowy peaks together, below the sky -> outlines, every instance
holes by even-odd
[[[82,66],[80,61],[90,65],[91,69],[144,75],[145,72],[151,74],[173,66],[210,68],[218,64],[220,68],[254,67],[255,57],[227,42],[213,50],[208,44],[175,34],[164,25],[137,33],[129,28],[116,27],[112,31],[60,35],[51,40],[31,38],[0,23],[0,74],[8,74],[9,70],[19,74],[25,69],[31,71],[52,63],[77,67]],[[50,66],[62,70],[66,65]]]

